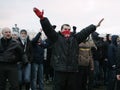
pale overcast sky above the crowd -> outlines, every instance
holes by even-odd
[[[56,30],[68,23],[80,31],[104,18],[97,32],[120,34],[120,0],[0,0],[0,28],[17,24],[20,29],[38,32],[41,25],[33,7],[44,9]]]

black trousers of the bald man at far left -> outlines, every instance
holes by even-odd
[[[10,90],[19,90],[17,64],[0,63],[0,90],[6,90],[7,79]]]

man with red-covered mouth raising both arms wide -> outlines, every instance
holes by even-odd
[[[34,8],[48,39],[53,43],[51,65],[54,69],[53,90],[76,90],[76,73],[78,72],[79,43],[84,41],[98,25],[90,25],[81,32],[71,34],[69,24],[63,24],[58,33],[52,28],[43,12]]]

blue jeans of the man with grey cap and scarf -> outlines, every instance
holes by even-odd
[[[30,83],[31,77],[31,64],[28,63],[24,67],[22,64],[18,64],[18,79],[19,83]]]

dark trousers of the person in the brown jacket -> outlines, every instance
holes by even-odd
[[[77,90],[93,90],[93,71],[89,66],[79,66]]]

